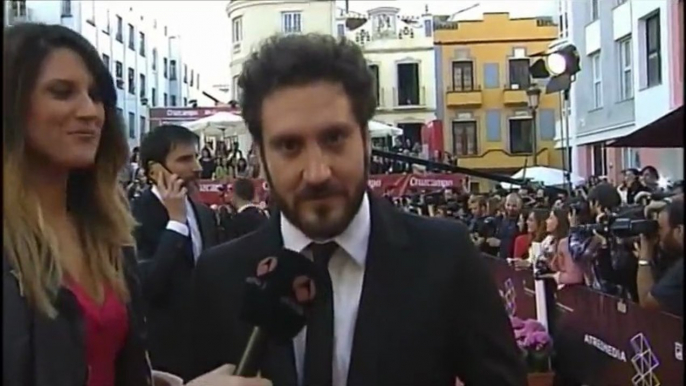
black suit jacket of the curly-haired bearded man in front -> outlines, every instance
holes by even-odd
[[[250,333],[239,320],[243,283],[282,248],[279,217],[201,256],[191,375],[240,360]],[[453,386],[455,377],[470,386],[526,385],[502,300],[466,227],[379,198],[371,199],[371,227],[348,385]],[[270,346],[261,370],[275,386],[295,386],[292,344]]]

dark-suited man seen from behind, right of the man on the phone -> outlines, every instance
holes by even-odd
[[[264,212],[253,204],[255,200],[255,185],[247,178],[237,178],[233,182],[231,201],[236,208],[236,214],[229,221],[227,240],[234,240],[257,230],[266,221]]]

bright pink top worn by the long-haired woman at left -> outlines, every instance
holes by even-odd
[[[114,290],[105,287],[105,300],[97,304],[79,284],[68,281],[83,312],[85,323],[87,386],[114,386],[117,355],[124,346],[129,330],[126,306]]]

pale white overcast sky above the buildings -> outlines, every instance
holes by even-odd
[[[253,0],[259,1],[259,0]],[[340,8],[345,1],[336,0]],[[193,1],[127,1],[136,9],[166,20],[182,37],[184,56],[201,71],[210,84],[227,84],[230,61],[230,23],[226,4],[222,0]],[[513,17],[543,16],[555,13],[555,0],[350,0],[351,11],[366,13],[377,7],[397,7],[402,14],[421,15],[425,7],[434,14],[453,14],[479,4],[461,13],[459,19],[480,18],[483,12],[510,12]],[[207,84],[207,83],[206,83]]]

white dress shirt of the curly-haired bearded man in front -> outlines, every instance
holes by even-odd
[[[334,252],[329,262],[329,274],[333,287],[334,312],[334,342],[332,385],[345,386],[348,381],[350,355],[352,353],[353,335],[357,309],[362,296],[362,282],[364,279],[364,265],[367,259],[367,246],[371,232],[371,214],[369,212],[369,198],[367,194],[362,199],[360,208],[348,225],[348,228],[333,240],[318,240],[318,242],[335,241],[339,248]],[[285,217],[281,217],[281,236],[284,248],[300,252],[311,258],[307,247],[313,242],[300,229],[291,224]],[[303,383],[305,366],[305,343],[307,327],[293,339],[295,350],[295,365],[299,384]]]

